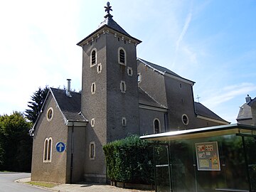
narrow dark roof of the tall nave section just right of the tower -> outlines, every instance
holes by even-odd
[[[164,68],[160,65],[156,65],[154,63],[150,63],[149,61],[143,60],[141,58],[137,58],[137,60],[139,60],[140,62],[144,63],[144,65],[149,66],[149,68],[152,68],[153,70],[156,70],[157,72],[161,73],[162,75],[171,75],[174,76],[178,79],[182,79],[182,80],[186,80],[188,82],[191,82],[192,84],[194,84],[195,82],[191,81],[191,80],[187,80],[186,78],[182,78],[180,75],[178,75],[177,73],[174,73],[173,71]]]

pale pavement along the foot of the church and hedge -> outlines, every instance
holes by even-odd
[[[26,183],[31,181],[31,178],[20,178],[16,180],[18,183]],[[27,183],[28,184],[28,183]],[[38,186],[36,186],[38,187]],[[40,187],[45,188],[45,187]],[[137,189],[128,189],[128,188],[119,188],[115,186],[110,186],[107,184],[100,183],[80,183],[80,184],[60,184],[58,186],[54,186],[53,188],[46,188],[50,191],[58,191],[58,192],[152,192],[152,191],[144,191]]]

